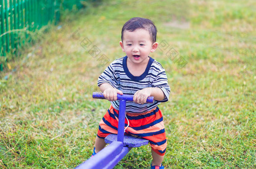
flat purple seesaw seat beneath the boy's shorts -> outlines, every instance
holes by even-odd
[[[113,141],[118,140],[117,134],[110,134],[107,137],[105,137],[105,143],[112,143]],[[143,139],[141,137],[135,137],[131,135],[124,135],[123,138],[123,144],[124,146],[128,147],[140,147],[149,144],[149,141],[146,139]]]

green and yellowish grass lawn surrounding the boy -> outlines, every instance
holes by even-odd
[[[179,68],[167,50],[151,55],[172,89],[159,106],[166,168],[256,168],[255,8],[254,0],[103,0],[67,15],[60,30],[52,27],[10,62],[16,71],[0,73],[0,168],[73,168],[91,156],[109,107],[91,93],[107,65],[99,66],[80,43],[87,37],[110,61],[120,58],[121,28],[136,16],[154,20],[157,41],[188,62]],[[144,146],[115,168],[150,163]]]

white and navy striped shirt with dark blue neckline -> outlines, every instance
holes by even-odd
[[[149,63],[141,76],[133,76],[127,68],[127,56],[116,59],[104,70],[98,78],[98,86],[102,83],[109,83],[114,88],[122,91],[123,94],[133,95],[136,91],[147,87],[158,87],[162,89],[165,98],[154,103],[138,104],[133,101],[126,101],[126,112],[144,113],[157,107],[160,102],[168,101],[170,86],[168,85],[165,69],[162,65],[149,57]],[[119,110],[120,101],[111,101],[112,106]]]

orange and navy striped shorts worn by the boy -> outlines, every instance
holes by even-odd
[[[118,114],[119,111],[110,105],[110,108],[99,122],[97,133],[99,138],[104,139],[109,134],[118,134]],[[125,127],[128,126],[125,134],[132,134],[149,140],[153,151],[161,156],[165,155],[167,146],[165,126],[162,113],[158,107],[140,114],[126,113],[126,117],[129,120],[129,126],[127,119],[125,119]]]

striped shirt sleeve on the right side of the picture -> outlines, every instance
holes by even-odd
[[[165,73],[165,69],[162,69],[157,74],[157,77],[152,82],[152,87],[160,88],[165,94],[164,100],[158,101],[158,102],[166,102],[166,101],[169,100],[170,86],[168,85],[168,80],[167,80],[167,76],[166,76],[166,73]]]

